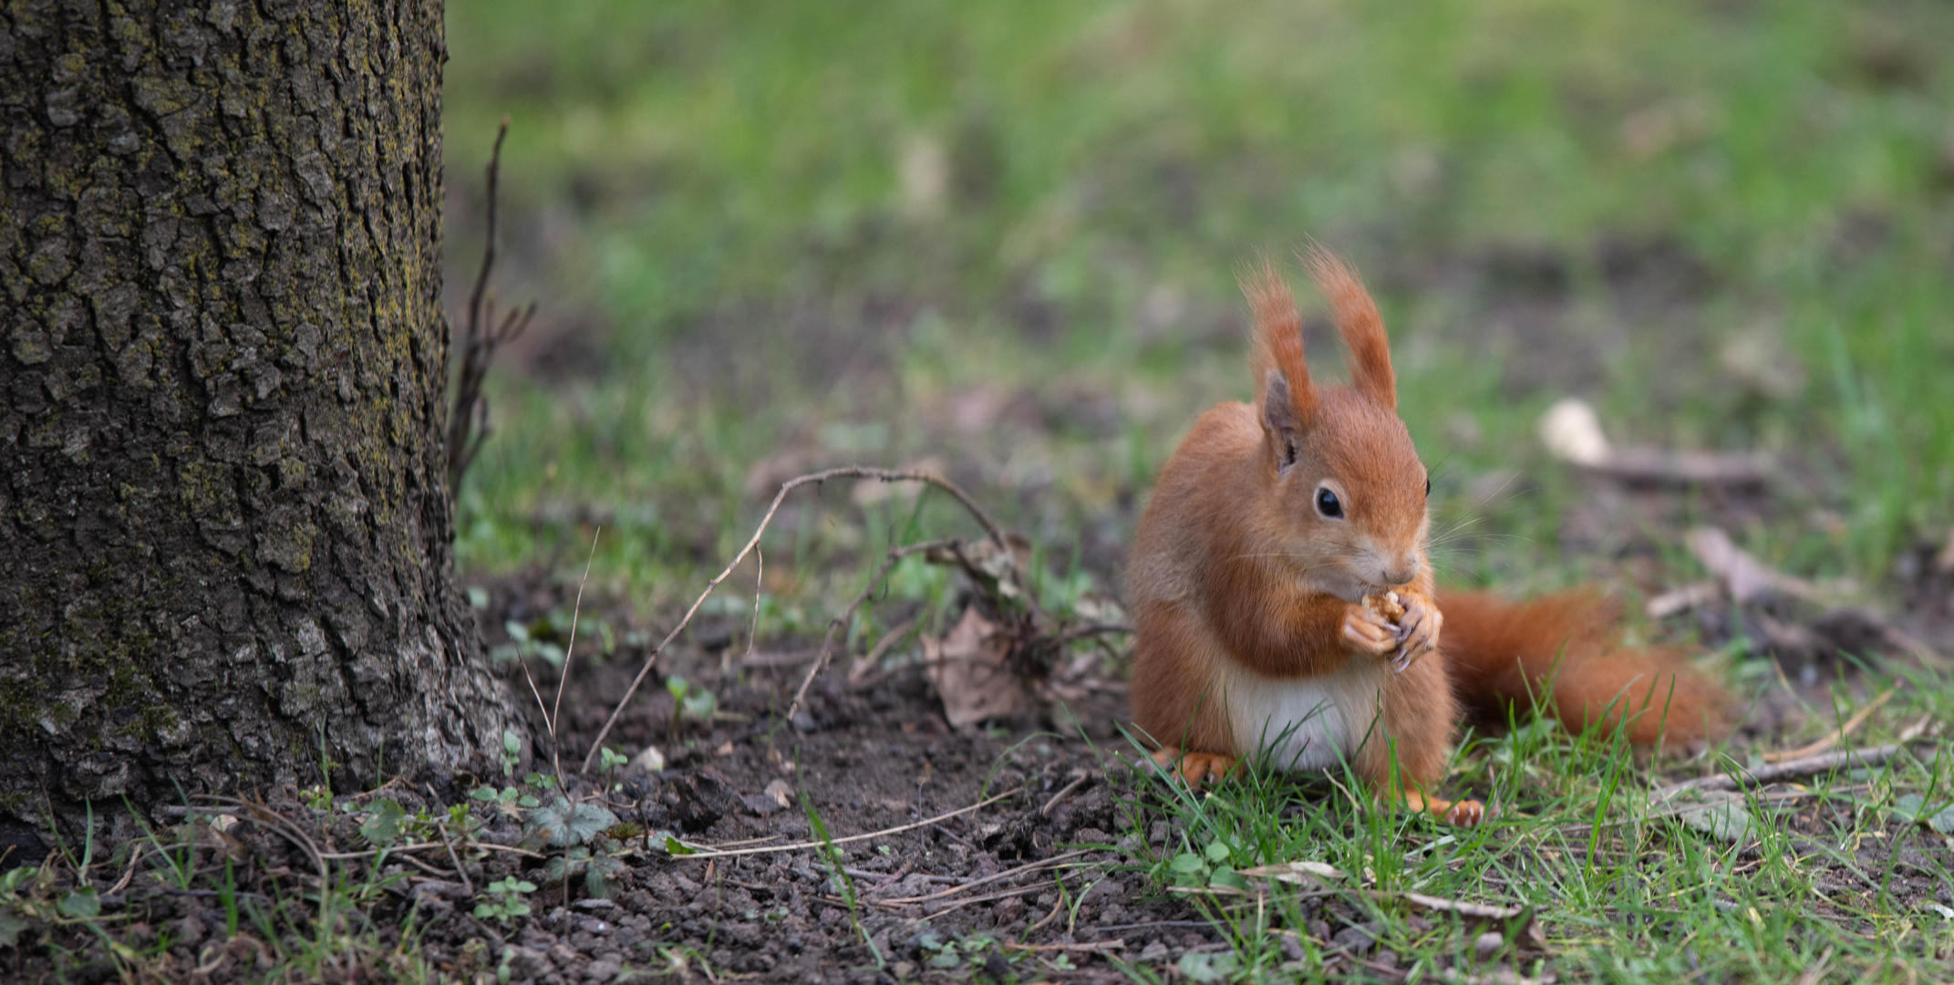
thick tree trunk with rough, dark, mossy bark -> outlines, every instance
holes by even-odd
[[[520,729],[453,582],[444,59],[438,0],[0,8],[0,835]]]

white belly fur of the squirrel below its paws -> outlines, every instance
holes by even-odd
[[[1268,678],[1227,666],[1221,700],[1237,752],[1278,770],[1337,766],[1378,721],[1385,674],[1383,661],[1362,659],[1313,678]]]

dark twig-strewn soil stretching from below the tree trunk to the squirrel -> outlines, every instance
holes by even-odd
[[[569,602],[567,592],[533,584],[504,584],[494,596],[492,620],[483,620],[488,625],[500,625],[512,612],[528,618]],[[612,621],[625,625],[621,616]],[[498,631],[488,635],[500,637]],[[711,623],[696,635],[725,639]],[[723,653],[700,647],[668,653],[606,741],[631,754],[647,745],[666,752],[664,770],[623,768],[610,778],[614,790],[606,803],[621,821],[647,833],[672,833],[688,844],[741,846],[750,854],[670,856],[653,840],[658,835],[649,835],[637,840],[649,850],[627,860],[610,881],[608,899],[596,899],[580,876],[547,879],[535,856],[490,846],[465,864],[465,885],[446,850],[401,852],[377,874],[360,874],[356,866],[350,878],[377,876],[385,883],[381,897],[363,903],[361,913],[338,919],[342,930],[367,934],[365,946],[348,948],[309,975],[328,981],[373,977],[389,964],[381,956],[404,934],[418,938],[442,977],[496,981],[506,969],[504,981],[512,983],[614,981],[627,969],[682,979],[895,981],[950,975],[952,960],[959,979],[981,973],[997,981],[1010,975],[1036,981],[1061,973],[1092,981],[1124,979],[1102,952],[1157,964],[1188,950],[1225,950],[1208,921],[1188,903],[1157,895],[1145,874],[1133,870],[1133,856],[1114,848],[1120,840],[1139,850],[1145,840],[1163,846],[1172,838],[1167,823],[1131,803],[1135,784],[1120,756],[1131,760],[1135,754],[1114,725],[1126,707],[1124,684],[1094,682],[1075,707],[1071,735],[1051,731],[1043,713],[993,721],[983,731],[954,731],[920,670],[852,686],[840,668],[815,682],[809,709],[789,725],[780,721],[780,711],[805,674],[813,647],[787,643],[786,653],[787,659],[762,653],[750,664],[733,661],[731,672],[721,672]],[[619,647],[604,664],[586,659],[573,664],[563,694],[567,774],[574,774],[590,739],[639,670],[641,655],[643,649]],[[530,666],[543,698],[553,700],[553,668],[537,659]],[[709,727],[686,721],[674,729],[674,698],[662,686],[664,672],[715,692],[719,713]],[[514,664],[510,686],[530,696]],[[545,735],[533,698],[526,704],[535,733]],[[547,741],[539,741],[531,766],[547,772]],[[156,977],[254,981],[274,967],[283,969],[279,958],[289,952],[266,944],[277,934],[252,926],[252,907],[276,915],[285,928],[317,926],[317,899],[293,899],[317,872],[299,840],[309,836],[326,854],[356,852],[367,842],[358,833],[361,817],[350,805],[391,797],[408,815],[420,807],[438,813],[447,803],[467,801],[465,793],[481,784],[504,782],[500,776],[393,782],[367,795],[342,797],[336,813],[307,807],[295,792],[281,792],[270,797],[262,815],[246,809],[227,831],[199,827],[191,860],[201,879],[190,889],[158,889],[154,879],[135,879],[102,897],[104,915],[123,922],[131,946],[152,950],[143,965]],[[768,795],[776,782],[786,784],[784,797]],[[571,793],[594,799],[602,786],[573,778]],[[987,803],[930,821],[979,801]],[[516,844],[522,838],[512,819],[496,817],[487,805],[473,809],[487,819],[481,842]],[[180,821],[182,811],[174,817]],[[832,838],[903,831],[838,846],[844,883],[817,850],[772,848],[809,840],[811,817]],[[303,835],[279,831],[287,827]],[[115,856],[113,868],[125,866],[125,854]],[[397,860],[408,856],[412,862]],[[234,872],[236,895],[231,899],[240,899],[246,911],[238,924],[231,922],[227,889],[209,887],[217,885],[215,874],[227,860]],[[1059,870],[1055,862],[1086,868]],[[143,868],[150,866],[154,856]],[[107,868],[98,864],[98,885]],[[469,887],[479,893],[508,876],[539,885],[528,897],[533,913],[506,922],[477,919],[473,905],[481,897]],[[1065,879],[1063,901],[1055,876]],[[117,973],[106,956],[82,958],[100,948],[92,948],[76,926],[57,926],[45,940],[49,950],[0,950],[0,979],[102,981]],[[1045,950],[1006,950],[1006,942]],[[881,969],[875,954],[883,956]]]

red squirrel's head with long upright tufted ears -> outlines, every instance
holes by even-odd
[[[1378,305],[1342,260],[1303,254],[1337,315],[1350,385],[1315,387],[1301,317],[1272,264],[1243,278],[1256,321],[1256,416],[1262,479],[1274,512],[1262,522],[1317,590],[1358,600],[1409,582],[1424,561],[1430,479],[1397,416],[1397,377]]]

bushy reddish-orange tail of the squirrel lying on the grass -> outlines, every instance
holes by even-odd
[[[1723,729],[1725,696],[1671,647],[1622,643],[1620,606],[1593,590],[1510,602],[1491,592],[1440,592],[1440,653],[1467,713],[1505,721],[1507,706],[1540,707],[1567,731],[1614,727],[1628,739],[1688,743]]]

